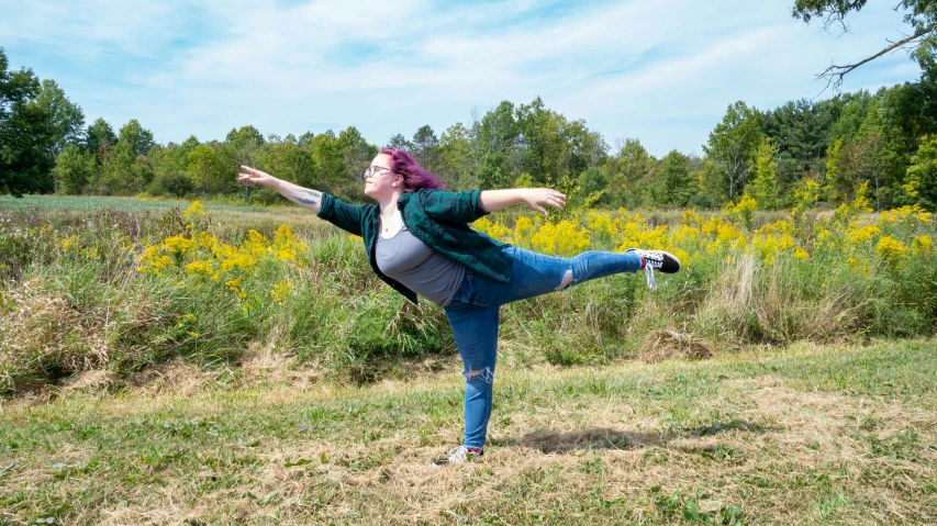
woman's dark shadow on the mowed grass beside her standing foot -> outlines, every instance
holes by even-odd
[[[554,432],[537,429],[521,438],[492,439],[492,446],[522,446],[538,449],[542,452],[569,452],[585,449],[639,449],[645,447],[667,447],[678,438],[693,438],[717,435],[726,432],[767,433],[776,428],[750,424],[743,421],[716,422],[701,427],[683,427],[670,432],[637,432],[598,427],[578,432]]]

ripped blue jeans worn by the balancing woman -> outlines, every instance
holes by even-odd
[[[491,418],[500,306],[590,279],[637,272],[642,265],[640,257],[631,253],[590,250],[556,258],[513,246],[502,250],[511,259],[511,279],[506,283],[467,270],[453,301],[445,306],[465,368],[465,445],[478,448],[484,446]],[[470,371],[481,372],[469,374]]]

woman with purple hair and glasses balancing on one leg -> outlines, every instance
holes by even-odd
[[[383,148],[365,170],[365,194],[354,205],[246,166],[239,181],[276,190],[338,227],[361,236],[373,271],[410,301],[420,294],[442,306],[465,366],[465,440],[436,465],[483,455],[491,416],[499,307],[618,272],[677,272],[680,261],[660,250],[585,251],[556,258],[499,243],[469,223],[513,204],[562,209],[566,195],[546,188],[444,192],[443,182],[406,152]]]

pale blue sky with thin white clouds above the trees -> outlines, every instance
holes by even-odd
[[[381,146],[540,97],[613,149],[638,138],[662,157],[701,154],[735,101],[830,97],[816,74],[908,31],[894,3],[870,0],[844,34],[792,19],[793,0],[0,0],[0,47],[87,123],[136,119],[164,144],[253,124],[280,136],[355,126]],[[899,52],[841,89],[918,76]]]

